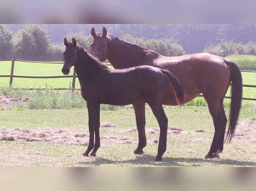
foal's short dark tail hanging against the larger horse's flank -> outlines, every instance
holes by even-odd
[[[171,86],[174,89],[174,95],[176,97],[177,103],[179,105],[183,104],[184,99],[185,99],[185,94],[183,92],[183,89],[182,89],[178,79],[171,72],[169,72],[168,70],[161,69],[161,71],[164,75],[166,75],[169,78]]]

